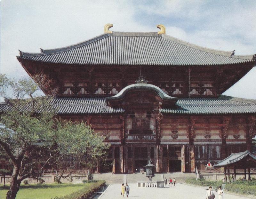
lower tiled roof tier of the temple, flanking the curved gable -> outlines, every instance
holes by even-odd
[[[24,105],[22,111],[30,108]],[[0,111],[10,110],[11,105],[2,103]],[[57,114],[120,114],[123,108],[110,107],[104,97],[56,97],[44,110]],[[169,108],[160,109],[163,114],[253,114],[256,100],[220,95],[218,98],[181,98]]]

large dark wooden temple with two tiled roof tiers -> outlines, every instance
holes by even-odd
[[[95,172],[133,173],[151,159],[156,172],[195,172],[252,149],[256,100],[221,95],[256,64],[159,32],[114,32],[17,57],[30,76],[59,87],[52,109],[85,121],[111,144]],[[47,95],[47,89],[42,88]],[[241,91],[242,92],[242,91]]]

